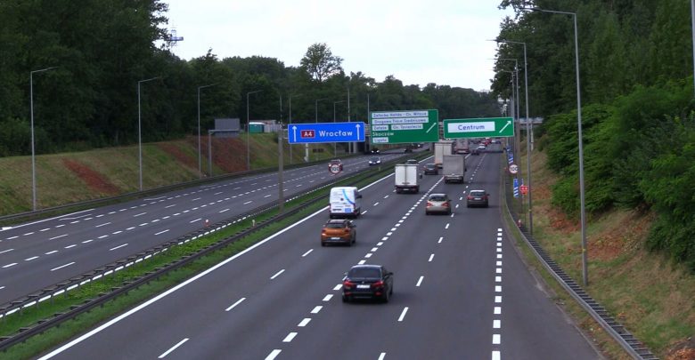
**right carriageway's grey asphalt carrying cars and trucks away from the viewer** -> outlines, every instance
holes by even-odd
[[[362,190],[352,247],[322,247],[326,210],[54,349],[42,359],[595,359],[529,274],[500,216],[498,154],[469,157],[466,184],[388,176]],[[467,208],[469,189],[491,194]],[[454,213],[425,216],[429,192]],[[343,303],[357,263],[395,273],[388,303]]]

